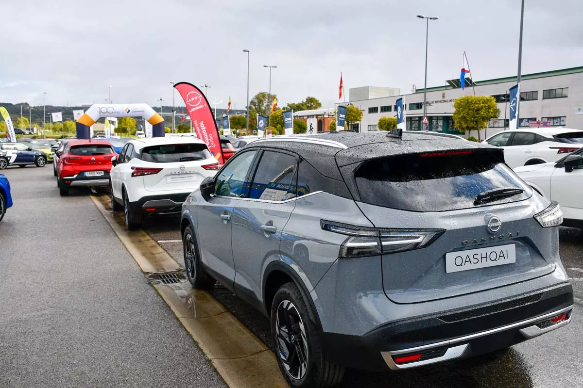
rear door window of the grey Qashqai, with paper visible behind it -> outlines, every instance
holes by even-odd
[[[265,151],[251,183],[249,198],[285,201],[296,197],[296,169],[295,156]]]

